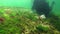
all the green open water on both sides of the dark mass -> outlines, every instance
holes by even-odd
[[[0,0],[0,6],[31,8],[34,0]],[[52,12],[60,15],[60,0],[48,0],[51,5],[55,1]]]

